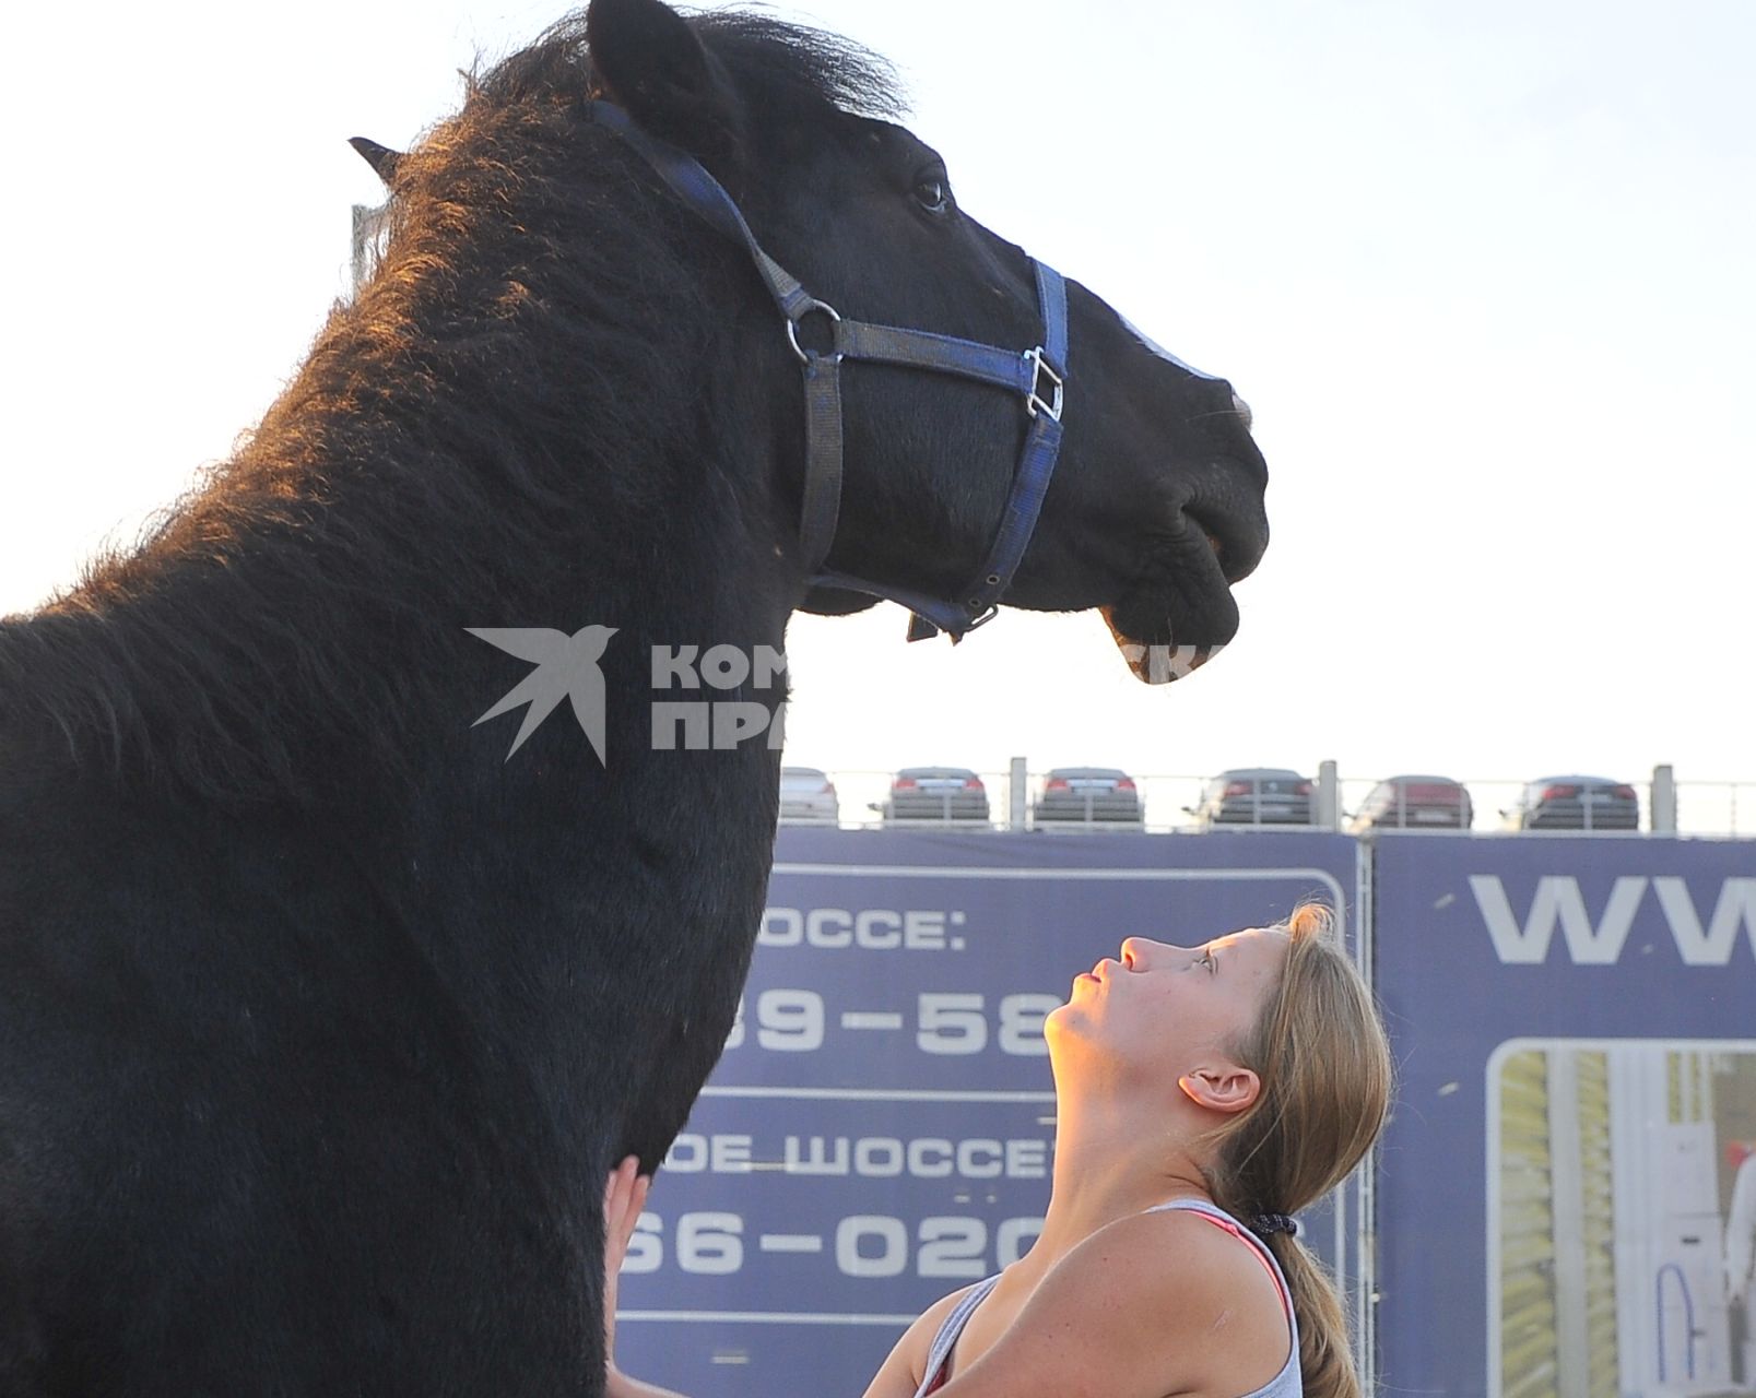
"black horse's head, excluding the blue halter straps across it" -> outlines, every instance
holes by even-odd
[[[602,93],[734,189],[760,246],[815,300],[846,319],[1040,346],[1031,260],[959,207],[939,154],[894,121],[776,88],[752,37],[692,26],[658,0],[595,0],[588,16]],[[773,312],[767,326],[760,319],[776,410],[799,419],[808,409],[781,326]],[[1249,409],[1224,379],[1164,353],[1073,281],[1066,358],[1061,461],[1004,600],[1101,607],[1134,674],[1175,679],[1231,640],[1231,584],[1268,542]],[[894,363],[852,363],[845,381],[831,572],[903,598],[961,598],[1010,505],[1024,402]],[[780,470],[799,489],[802,433],[781,440]],[[871,602],[820,586],[804,605]],[[1182,661],[1166,663],[1171,654]]]

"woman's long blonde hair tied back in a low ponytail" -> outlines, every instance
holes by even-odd
[[[1335,914],[1303,903],[1278,930],[1291,938],[1280,982],[1234,1045],[1261,1079],[1261,1095],[1212,1137],[1213,1202],[1245,1223],[1294,1214],[1347,1179],[1378,1138],[1391,1102],[1389,1042],[1371,989],[1333,937]],[[1306,1398],[1359,1398],[1335,1282],[1291,1233],[1266,1242],[1292,1293]]]

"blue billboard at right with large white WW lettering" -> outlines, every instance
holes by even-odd
[[[1384,1389],[1756,1391],[1756,844],[1382,835],[1371,886]]]

